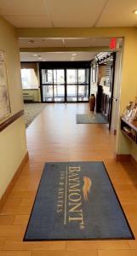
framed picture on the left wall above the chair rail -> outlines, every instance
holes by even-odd
[[[9,86],[7,77],[7,67],[5,61],[5,52],[0,50],[0,121],[9,116]]]

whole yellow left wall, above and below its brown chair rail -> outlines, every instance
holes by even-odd
[[[20,55],[14,26],[0,17],[0,49],[6,51],[11,115],[23,108],[20,82]],[[24,117],[0,132],[0,197],[23,160],[26,149]]]

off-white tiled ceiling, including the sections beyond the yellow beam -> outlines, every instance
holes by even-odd
[[[0,0],[0,15],[16,27],[136,26],[137,0]],[[34,44],[29,41],[33,40]],[[32,41],[32,43],[33,43]],[[19,38],[20,48],[109,46],[109,38]],[[21,61],[37,61],[20,53]],[[88,61],[97,52],[76,52],[75,61]],[[72,52],[38,53],[42,60],[70,61]]]

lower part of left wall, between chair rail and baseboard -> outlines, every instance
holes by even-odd
[[[0,132],[0,197],[26,154],[24,117]]]

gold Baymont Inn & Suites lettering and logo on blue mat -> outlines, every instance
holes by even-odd
[[[81,166],[66,166],[66,170],[60,172],[56,212],[63,216],[64,225],[78,224],[83,229],[83,200],[88,203],[92,181],[89,177],[80,177],[80,172]]]

